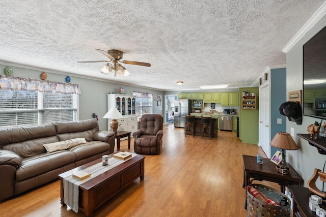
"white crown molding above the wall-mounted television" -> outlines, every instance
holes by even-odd
[[[326,14],[326,1],[320,8],[312,15],[312,17],[305,23],[305,25],[295,34],[290,42],[282,49],[287,53],[324,15]]]

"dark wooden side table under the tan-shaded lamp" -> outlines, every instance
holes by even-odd
[[[291,175],[284,175],[276,170],[276,164],[268,158],[263,158],[263,164],[257,163],[256,156],[242,155],[243,158],[243,183],[242,188],[247,187],[252,181],[271,181],[281,185],[281,192],[284,194],[285,186],[292,184],[301,185],[303,179],[295,172],[291,165],[287,165]],[[252,178],[252,179],[251,179]],[[247,209],[247,200],[244,203],[244,209]]]

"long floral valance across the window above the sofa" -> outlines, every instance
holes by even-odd
[[[0,89],[81,94],[78,84],[0,75]]]

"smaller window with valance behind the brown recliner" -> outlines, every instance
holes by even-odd
[[[152,114],[153,94],[148,92],[132,91],[132,95],[136,98],[136,115],[141,118],[143,114]]]

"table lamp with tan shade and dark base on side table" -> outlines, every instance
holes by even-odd
[[[282,159],[280,161],[280,164],[276,167],[277,171],[282,174],[290,174],[289,168],[286,166],[286,161],[284,160],[284,150],[299,149],[295,144],[294,140],[292,139],[291,135],[286,132],[278,132],[269,144],[273,147],[282,149]]]

